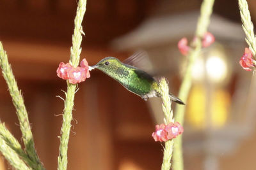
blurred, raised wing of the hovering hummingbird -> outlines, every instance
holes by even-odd
[[[125,59],[123,62],[124,64],[137,67],[148,74],[154,74],[154,69],[148,57],[148,53],[143,50],[135,52],[131,57]]]

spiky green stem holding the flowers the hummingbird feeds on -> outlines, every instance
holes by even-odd
[[[86,0],[80,0],[77,6],[77,13],[75,18],[74,35],[72,36],[72,48],[70,49],[70,64],[76,67],[79,64],[82,43],[82,21],[86,11]],[[63,123],[61,127],[60,138],[60,155],[58,157],[58,169],[67,169],[67,151],[68,139],[70,135],[70,127],[72,121],[72,110],[74,107],[76,85],[67,82],[67,93],[65,99],[65,108],[63,113]]]

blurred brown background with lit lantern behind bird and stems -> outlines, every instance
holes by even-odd
[[[199,0],[88,1],[81,58],[92,66],[113,56],[124,60],[145,50],[152,67],[177,95],[186,57],[177,42],[196,29]],[[256,1],[248,0],[252,19]],[[66,82],[56,76],[68,62],[75,0],[2,0],[0,40],[22,89],[35,145],[47,169],[56,169]],[[255,21],[255,20],[254,20]],[[255,22],[256,23],[256,22]],[[209,25],[216,43],[202,50],[186,103],[185,169],[255,169],[256,79],[239,66],[244,32],[238,4],[216,0]],[[79,84],[68,148],[68,169],[160,169],[163,146],[154,126],[163,121],[161,101],[143,101],[100,71]],[[21,141],[19,122],[3,76],[0,118]],[[175,113],[175,104],[173,104]],[[173,160],[179,161],[179,160]],[[0,169],[10,169],[3,157]]]

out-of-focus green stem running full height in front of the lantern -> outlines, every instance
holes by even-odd
[[[198,19],[196,27],[196,40],[191,45],[192,50],[189,52],[189,63],[184,74],[184,78],[180,87],[179,98],[185,103],[188,100],[189,90],[191,89],[191,71],[195,60],[198,58],[202,48],[202,38],[207,32],[207,27],[210,22],[210,17],[212,13],[212,7],[214,0],[204,0],[200,10],[200,17]],[[181,125],[184,123],[184,113],[185,107],[177,105],[177,110],[175,114],[175,121],[179,122]],[[174,151],[173,151],[173,170],[184,169],[183,157],[182,157],[182,135],[174,139]]]

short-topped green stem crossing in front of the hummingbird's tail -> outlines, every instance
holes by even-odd
[[[164,112],[164,123],[165,124],[170,124],[171,122],[174,123],[173,111],[171,108],[172,102],[169,97],[169,87],[165,78],[161,78],[159,86],[161,89],[161,95],[163,100],[162,108]],[[165,145],[164,156],[163,156],[163,164],[161,169],[170,170],[172,152],[173,152],[173,139],[170,141],[166,141],[164,145]]]

